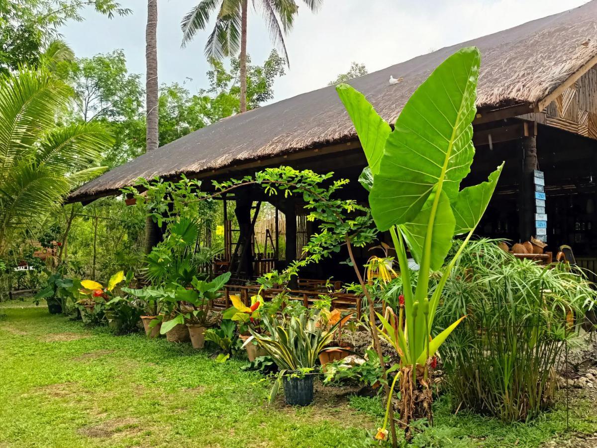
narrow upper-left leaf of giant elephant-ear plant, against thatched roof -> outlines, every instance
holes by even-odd
[[[356,91],[348,84],[338,84],[336,91],[352,119],[352,124],[355,125],[371,173],[377,174],[383,148],[392,128],[377,114],[361,92]]]

